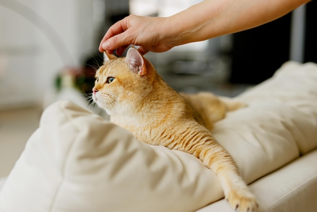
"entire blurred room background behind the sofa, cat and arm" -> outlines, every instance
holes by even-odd
[[[49,104],[69,99],[89,107],[102,63],[99,42],[111,24],[129,14],[170,16],[199,2],[0,0],[0,176],[12,169]],[[287,60],[317,62],[316,5],[312,1],[263,26],[146,57],[177,91],[235,96]]]

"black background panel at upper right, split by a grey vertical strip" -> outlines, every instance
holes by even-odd
[[[306,5],[303,62],[317,62],[317,2]],[[290,55],[291,13],[233,34],[231,83],[258,84],[273,75]]]

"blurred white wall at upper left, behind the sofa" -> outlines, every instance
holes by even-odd
[[[63,67],[98,49],[94,33],[93,0],[0,0],[0,109],[41,103]]]

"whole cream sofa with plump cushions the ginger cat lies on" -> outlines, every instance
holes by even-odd
[[[317,211],[317,65],[286,62],[235,98],[248,107],[213,135],[259,211]],[[44,111],[0,189],[1,212],[234,211],[192,155],[139,142],[67,100]]]

